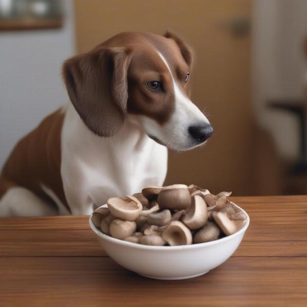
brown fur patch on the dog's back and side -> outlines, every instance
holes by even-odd
[[[16,144],[1,172],[0,198],[9,188],[19,186],[52,203],[41,189],[43,184],[70,211],[60,174],[63,117],[59,110],[52,113]]]

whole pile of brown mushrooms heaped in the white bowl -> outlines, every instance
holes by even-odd
[[[132,196],[110,198],[92,214],[104,234],[156,246],[198,244],[237,232],[245,213],[227,197],[195,185],[151,186]]]

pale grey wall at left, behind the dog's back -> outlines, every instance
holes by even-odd
[[[0,168],[20,137],[67,102],[60,68],[75,53],[71,0],[61,29],[0,32]]]

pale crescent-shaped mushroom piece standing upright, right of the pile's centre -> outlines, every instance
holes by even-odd
[[[181,221],[191,230],[204,227],[208,220],[208,210],[202,196],[192,197],[192,204]]]

